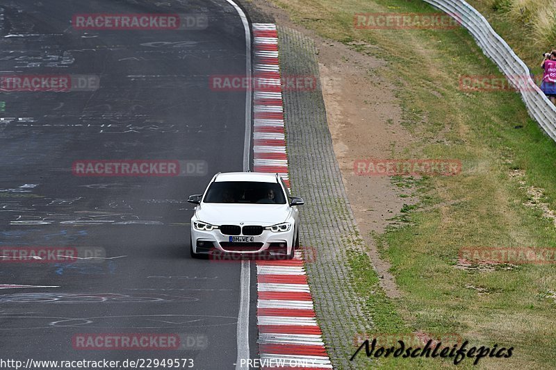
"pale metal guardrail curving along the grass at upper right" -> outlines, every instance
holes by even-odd
[[[477,44],[498,65],[509,82],[521,93],[529,115],[556,141],[556,107],[530,77],[530,70],[473,6],[463,0],[424,0],[451,15],[468,29]],[[525,78],[527,76],[527,78]]]

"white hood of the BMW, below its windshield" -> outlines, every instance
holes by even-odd
[[[286,221],[290,209],[288,204],[222,204],[202,203],[195,215],[199,221],[213,225],[254,224],[270,226]]]

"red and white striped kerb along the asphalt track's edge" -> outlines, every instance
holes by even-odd
[[[275,24],[253,24],[254,171],[278,173],[290,187],[284,136],[278,33]],[[282,369],[332,369],[316,321],[300,251],[293,260],[257,261],[257,325],[261,364]]]

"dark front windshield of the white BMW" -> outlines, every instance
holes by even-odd
[[[208,187],[204,202],[286,204],[286,197],[278,183],[223,181]]]

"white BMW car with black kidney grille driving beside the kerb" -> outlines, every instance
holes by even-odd
[[[191,218],[191,257],[214,251],[293,258],[299,246],[300,217],[278,174],[216,174],[204,194],[189,197],[197,205]]]

